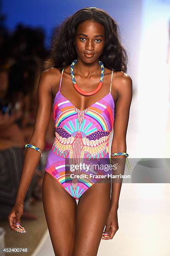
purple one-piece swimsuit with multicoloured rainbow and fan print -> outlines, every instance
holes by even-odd
[[[66,159],[109,159],[109,138],[114,123],[114,99],[111,95],[113,71],[109,93],[84,110],[76,108],[61,94],[63,71],[53,103],[56,137],[45,171],[78,200],[97,179],[71,178],[66,172]],[[80,174],[79,171],[77,173]]]

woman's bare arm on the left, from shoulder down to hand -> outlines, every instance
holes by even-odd
[[[55,72],[54,74],[54,70],[46,69],[41,73],[38,83],[38,108],[33,128],[33,134],[28,144],[32,144],[40,148],[42,152],[45,147],[46,131],[51,115],[51,105],[53,98],[52,89],[54,82],[56,84],[56,74],[59,74],[59,72]],[[15,205],[10,212],[10,215],[8,215],[9,225],[12,230],[17,231],[15,222],[20,222],[18,220],[20,220],[20,216],[23,214],[24,198],[33,178],[35,169],[40,161],[40,157],[40,152],[34,150],[33,148],[26,149]]]

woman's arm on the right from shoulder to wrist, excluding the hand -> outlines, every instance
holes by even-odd
[[[119,75],[114,79],[114,88],[117,90],[117,101],[114,109],[114,135],[112,140],[111,153],[125,152],[126,153],[126,133],[129,121],[129,111],[132,102],[132,79],[124,72],[119,72]],[[128,152],[127,152],[128,153]],[[112,164],[118,161],[117,174],[124,173],[126,156],[111,156]],[[121,160],[119,160],[119,158]],[[123,166],[123,167],[122,167]],[[122,173],[123,172],[123,173]],[[117,211],[119,207],[119,195],[122,187],[122,182],[112,182],[112,197],[111,211]]]

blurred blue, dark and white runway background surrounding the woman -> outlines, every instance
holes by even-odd
[[[64,18],[87,6],[117,21],[128,52],[127,74],[133,81],[129,157],[170,158],[170,0],[0,0],[0,247],[54,255],[41,196],[43,167],[55,137],[53,110],[44,154],[25,196],[21,225],[27,233],[10,230],[7,216],[20,181],[23,146],[33,132],[38,81],[52,38]],[[98,255],[169,256],[169,196],[169,184],[123,184],[119,230],[113,240],[101,241]]]

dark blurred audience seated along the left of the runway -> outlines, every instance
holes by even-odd
[[[6,219],[15,202],[22,173],[24,145],[29,142],[33,133],[39,77],[48,62],[49,51],[44,47],[43,30],[19,24],[13,33],[9,33],[1,26],[0,54],[0,219]],[[51,112],[45,155],[53,145],[54,136]],[[21,218],[36,219],[30,211],[30,205],[42,200],[42,159],[25,196]],[[13,188],[13,193],[10,187]]]

